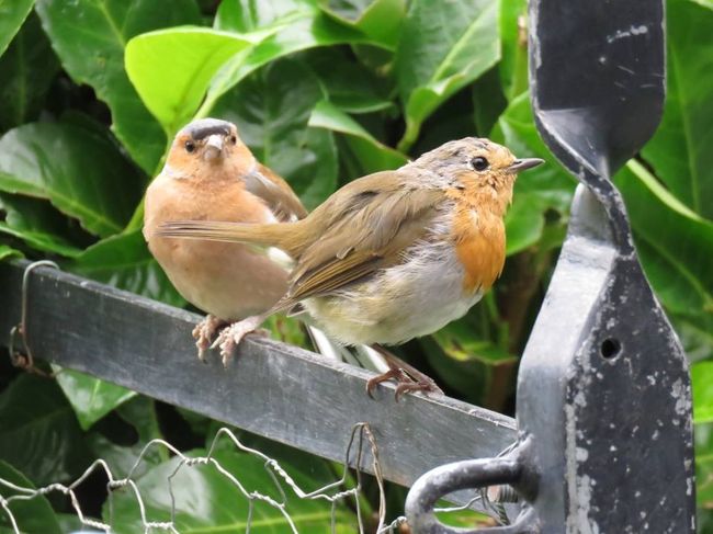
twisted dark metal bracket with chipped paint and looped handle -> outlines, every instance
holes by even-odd
[[[694,532],[688,363],[611,182],[660,120],[663,2],[531,0],[530,20],[535,122],[581,184],[520,365],[519,445],[427,473],[407,516],[417,534]],[[502,482],[523,501],[511,526],[431,513],[455,488]]]

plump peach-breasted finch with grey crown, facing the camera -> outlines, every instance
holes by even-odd
[[[146,193],[144,236],[178,292],[208,313],[193,331],[201,359],[218,328],[270,309],[287,291],[291,260],[278,249],[163,239],[176,219],[272,224],[307,212],[290,185],[259,163],[234,124],[215,118],[181,129]]]

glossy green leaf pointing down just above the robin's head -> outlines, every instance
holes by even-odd
[[[415,0],[396,49],[395,72],[406,106],[399,150],[408,151],[423,121],[500,58],[498,2]]]

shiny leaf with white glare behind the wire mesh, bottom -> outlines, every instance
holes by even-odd
[[[186,453],[190,456],[203,456],[205,451]],[[235,476],[248,491],[268,493],[280,500],[274,482],[265,473],[264,461],[234,451],[218,451],[216,459],[220,466]],[[169,521],[171,493],[168,480],[179,466],[174,457],[152,468],[137,482],[138,490],[146,505],[149,521]],[[283,464],[281,462],[281,464]],[[294,480],[306,490],[316,489],[314,482],[301,473],[283,465]],[[287,488],[286,511],[293,519],[298,532],[329,533],[331,504],[324,500],[298,499]],[[246,532],[248,526],[248,500],[242,497],[235,484],[222,475],[213,465],[181,467],[171,478],[172,495],[176,502],[174,526],[181,533],[218,533]],[[143,531],[139,510],[132,491],[115,492],[113,499],[113,530],[117,534]],[[104,518],[109,521],[109,505],[104,507]],[[336,511],[337,532],[353,532],[356,518],[344,505]],[[275,508],[263,502],[256,502],[250,532],[287,533],[292,532],[284,515]]]

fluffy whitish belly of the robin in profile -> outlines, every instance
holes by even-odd
[[[419,243],[408,261],[336,296],[305,300],[328,336],[346,344],[398,344],[463,317],[482,297],[464,288],[450,243]]]

